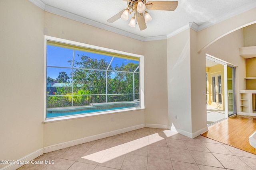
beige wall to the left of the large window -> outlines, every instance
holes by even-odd
[[[1,0],[0,30],[0,160],[18,160],[43,147],[44,11]]]

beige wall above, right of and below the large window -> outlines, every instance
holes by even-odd
[[[54,145],[60,142],[80,139],[90,135],[114,131],[125,127],[140,124],[158,124],[168,125],[167,115],[167,65],[166,65],[166,40],[142,42],[122,35],[118,35],[109,31],[98,29],[90,25],[86,25],[77,21],[69,20],[64,17],[56,16],[46,12],[45,14],[45,34],[68,39],[72,41],[97,45],[128,53],[144,55],[144,83],[145,83],[145,111],[134,111],[133,113],[120,113],[116,115],[104,115],[105,127],[102,128],[102,122],[95,123],[94,117],[84,118],[84,121],[65,121],[65,123],[46,123],[44,130],[44,146]],[[160,75],[160,76],[159,76]],[[159,88],[156,88],[159,87]],[[145,117],[142,114],[145,112]],[[118,123],[113,126],[111,117],[119,117]],[[102,116],[98,116],[98,119]],[[135,121],[136,120],[136,121]],[[80,123],[78,123],[80,122]],[[94,129],[87,133],[88,126],[83,125],[89,123],[90,129]],[[97,122],[97,121],[96,121]],[[50,130],[51,126],[56,126],[56,130]],[[74,126],[75,125],[75,126]],[[72,127],[72,131],[76,129],[84,129],[83,135],[80,132],[72,134],[71,138],[65,137],[62,127]],[[72,133],[70,131],[70,134]],[[54,135],[59,135],[58,140],[53,139]],[[62,140],[60,140],[62,139]]]

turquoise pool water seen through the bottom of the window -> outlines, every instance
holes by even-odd
[[[90,109],[90,110],[80,110],[80,111],[70,111],[70,112],[63,112],[63,113],[47,113],[46,117],[47,118],[52,118],[52,117],[60,117],[60,116],[67,116],[67,115],[78,115],[78,114],[85,114],[85,113],[94,113],[98,111],[108,111],[108,110],[116,110],[116,109],[125,109],[125,108],[130,108],[130,107],[114,107],[111,109]]]

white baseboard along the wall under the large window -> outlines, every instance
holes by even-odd
[[[72,146],[75,146],[75,145],[80,145],[82,143],[95,141],[95,140],[103,139],[103,138],[106,138],[106,137],[111,137],[111,136],[118,135],[118,134],[121,134],[121,133],[126,133],[126,132],[129,132],[129,131],[133,131],[135,129],[141,129],[143,127],[145,127],[145,124],[136,125],[136,126],[132,126],[132,127],[127,127],[127,128],[124,128],[124,129],[118,129],[116,131],[101,133],[101,134],[98,134],[98,135],[93,135],[93,136],[85,137],[85,138],[82,138],[82,139],[76,139],[76,140],[73,140],[73,141],[59,143],[59,144],[56,144],[56,145],[51,145],[51,146],[48,146],[48,147],[44,147],[44,153],[52,152],[52,151],[67,148],[67,147],[72,147]]]

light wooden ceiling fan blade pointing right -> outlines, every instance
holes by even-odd
[[[146,8],[148,10],[174,11],[178,6],[178,1],[148,1]]]

